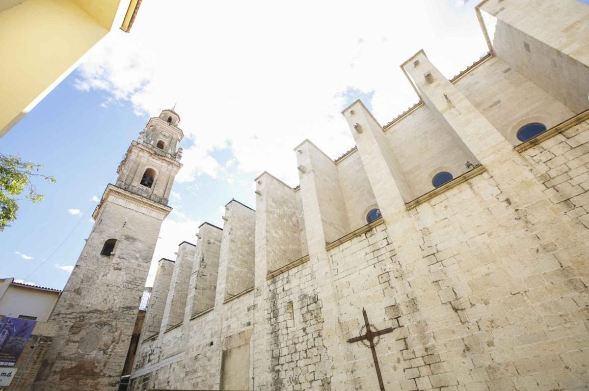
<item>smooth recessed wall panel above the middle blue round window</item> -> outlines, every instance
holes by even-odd
[[[393,124],[385,135],[413,198],[434,189],[432,179],[436,173],[448,171],[456,178],[468,171],[467,160],[477,163],[425,105]]]

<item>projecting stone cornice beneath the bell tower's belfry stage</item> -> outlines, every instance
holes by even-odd
[[[94,209],[94,213],[92,213],[92,218],[94,220],[98,219],[107,201],[143,213],[144,215],[151,216],[158,220],[165,219],[172,211],[170,206],[151,201],[150,199],[128,192],[127,190],[123,190],[109,183],[102,194],[100,203],[96,209]]]

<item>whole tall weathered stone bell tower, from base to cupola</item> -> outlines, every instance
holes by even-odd
[[[180,117],[164,110],[131,142],[49,321],[57,327],[37,390],[114,390],[123,370],[170,190]]]

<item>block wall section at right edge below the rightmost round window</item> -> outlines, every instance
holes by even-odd
[[[581,121],[522,155],[534,167],[547,198],[589,228],[589,121]]]

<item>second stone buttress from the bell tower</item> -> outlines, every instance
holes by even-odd
[[[196,246],[188,242],[182,242],[178,245],[176,254],[176,264],[174,264],[166,308],[161,322],[161,333],[184,320],[188,284],[190,283],[190,272],[196,255]]]

